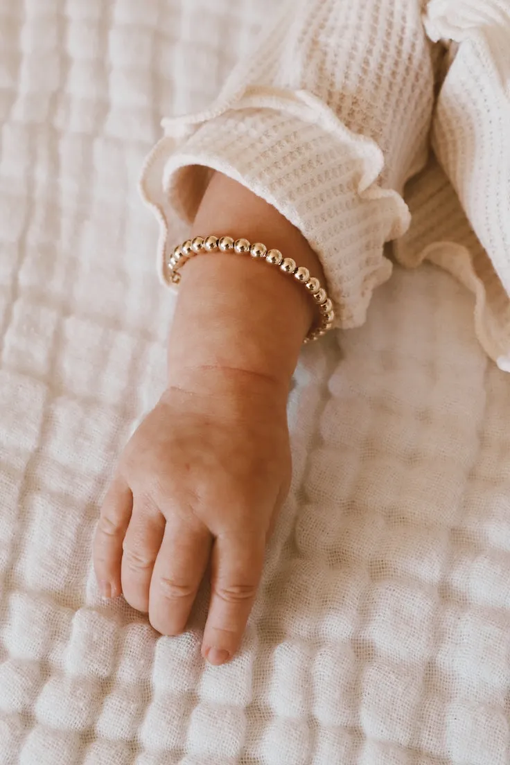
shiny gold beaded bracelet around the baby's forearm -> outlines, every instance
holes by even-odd
[[[319,279],[310,276],[308,269],[304,266],[297,266],[292,258],[284,258],[279,249],[269,249],[260,242],[249,243],[248,239],[232,239],[232,236],[195,236],[194,239],[187,239],[186,242],[177,246],[171,258],[168,260],[169,278],[174,285],[180,282],[180,269],[190,258],[200,255],[200,252],[237,252],[239,255],[251,255],[252,258],[265,260],[269,265],[274,265],[281,272],[293,276],[297,282],[300,282],[306,288],[313,300],[317,303],[320,310],[320,323],[312,327],[305,343],[311,340],[317,340],[330,330],[335,318],[333,303],[328,298],[326,290],[320,285]]]

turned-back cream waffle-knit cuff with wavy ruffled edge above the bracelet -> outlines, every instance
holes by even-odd
[[[374,289],[391,274],[383,248],[408,228],[408,208],[378,177],[382,151],[349,131],[310,93],[255,88],[203,115],[168,119],[149,155],[142,195],[161,225],[159,272],[175,242],[175,216],[193,221],[216,170],[297,226],[323,265],[337,324],[365,321]],[[268,243],[269,245],[271,243]]]

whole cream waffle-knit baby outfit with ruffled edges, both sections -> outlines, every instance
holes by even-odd
[[[443,62],[443,47],[430,41],[450,48]],[[142,181],[161,223],[161,277],[175,244],[168,222],[176,213],[193,220],[213,168],[301,230],[322,261],[337,324],[359,326],[391,275],[385,243],[408,229],[401,195],[427,161],[431,129],[497,279],[486,282],[472,253],[459,259],[454,247],[434,262],[474,291],[479,340],[505,368],[508,297],[503,303],[497,281],[508,295],[508,51],[508,0],[281,2],[213,105],[163,121],[165,137]],[[430,224],[419,207],[414,220],[420,229]],[[411,265],[415,255],[408,261],[406,252],[400,247],[398,258]],[[487,302],[502,305],[490,321]]]

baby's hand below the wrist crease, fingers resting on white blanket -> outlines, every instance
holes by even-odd
[[[265,544],[287,494],[284,397],[271,379],[200,370],[168,389],[125,448],[94,544],[103,594],[124,594],[158,632],[186,627],[210,565],[203,656],[227,661],[242,640]]]

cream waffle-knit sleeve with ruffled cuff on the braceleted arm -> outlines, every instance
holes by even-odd
[[[193,220],[213,168],[307,237],[339,324],[362,324],[408,227],[404,182],[427,158],[434,103],[421,0],[284,0],[206,112],[164,120],[142,192],[161,222]],[[269,245],[271,243],[268,243]]]

